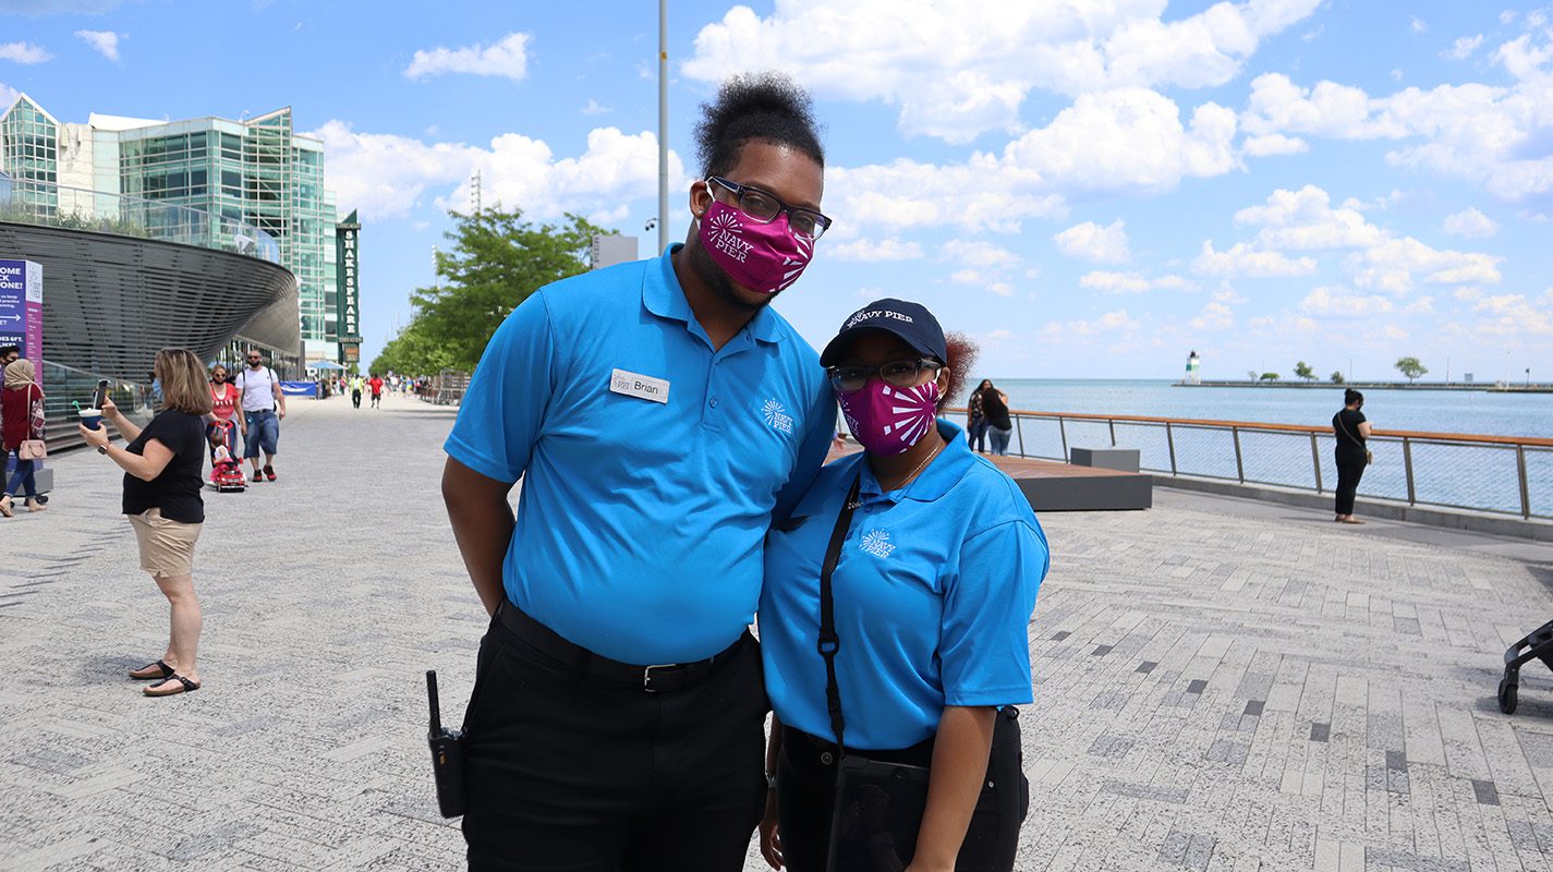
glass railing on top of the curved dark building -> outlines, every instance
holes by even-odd
[[[50,182],[0,185],[0,221],[140,236],[281,263],[275,238],[242,221],[185,205]]]

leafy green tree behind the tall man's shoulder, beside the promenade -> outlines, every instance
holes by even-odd
[[[472,371],[491,334],[530,294],[587,272],[595,233],[576,215],[561,224],[531,224],[520,210],[485,208],[450,213],[458,222],[444,233],[452,242],[436,253],[441,284],[410,294],[415,316],[373,361],[374,370]]]

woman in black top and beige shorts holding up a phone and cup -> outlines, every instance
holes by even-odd
[[[157,351],[155,371],[162,409],[144,429],[112,401],[102,404],[102,420],[129,445],[112,443],[107,427],[93,431],[81,424],[79,431],[87,445],[124,469],[123,510],[140,546],[140,567],[151,574],[172,609],[162,657],[130,670],[129,676],[151,681],[143,690],[146,696],[172,696],[200,689],[196,654],[203,616],[194,595],[194,544],[205,522],[200,471],[211,403],[205,367],[193,351]]]

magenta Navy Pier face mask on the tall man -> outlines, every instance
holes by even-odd
[[[814,239],[794,233],[786,215],[756,224],[731,205],[711,201],[700,218],[700,247],[739,284],[776,294],[803,275]]]

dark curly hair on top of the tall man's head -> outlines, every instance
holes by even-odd
[[[781,73],[733,76],[717,89],[714,103],[700,104],[696,155],[702,176],[722,176],[739,162],[750,140],[784,145],[825,166],[809,93]]]

